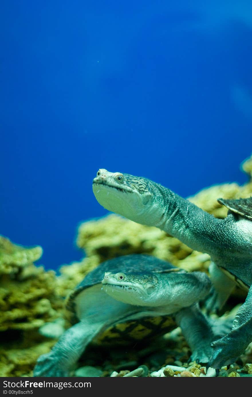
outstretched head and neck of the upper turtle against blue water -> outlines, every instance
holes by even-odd
[[[93,180],[93,192],[107,210],[159,227],[196,251],[216,253],[220,243],[230,249],[224,220],[149,179],[101,169]]]

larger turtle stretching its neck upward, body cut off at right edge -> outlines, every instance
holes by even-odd
[[[92,189],[107,210],[159,227],[191,249],[210,255],[213,286],[205,300],[208,313],[220,312],[235,285],[247,291],[232,330],[212,343],[208,366],[219,369],[235,362],[252,341],[252,197],[219,198],[228,212],[224,219],[218,219],[145,177],[102,168],[93,179]]]

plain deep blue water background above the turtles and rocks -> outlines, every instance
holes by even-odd
[[[38,264],[83,256],[99,168],[183,197],[247,180],[251,0],[4,0],[0,30],[0,234]]]

